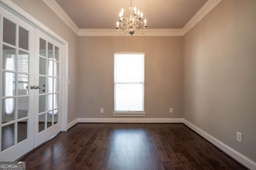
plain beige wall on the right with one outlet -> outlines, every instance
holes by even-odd
[[[254,162],[255,9],[255,0],[222,0],[183,37],[184,119]]]

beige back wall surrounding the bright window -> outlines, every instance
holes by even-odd
[[[78,39],[78,117],[113,118],[114,52],[129,51],[145,52],[146,118],[182,117],[182,37]]]

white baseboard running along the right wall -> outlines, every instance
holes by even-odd
[[[243,164],[244,166],[249,168],[250,170],[256,170],[256,163],[253,162],[252,160],[250,160],[249,158],[247,158],[246,156],[244,156],[243,154],[241,154],[241,153],[237,152],[236,150],[230,148],[228,145],[222,143],[221,141],[214,138],[210,134],[206,133],[202,129],[196,127],[195,125],[193,125],[192,123],[190,123],[186,119],[183,119],[183,123],[185,125],[187,125],[188,127],[190,127],[193,131],[195,131],[196,133],[198,133],[199,135],[204,137],[210,143],[212,143],[213,145],[218,147],[220,150],[222,150],[223,152],[225,152],[226,154],[228,154],[229,156],[231,156],[232,158],[234,158],[235,160],[237,160],[238,162],[240,162],[241,164]]]

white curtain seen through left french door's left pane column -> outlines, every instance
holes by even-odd
[[[6,58],[6,70],[13,70],[13,59],[11,57]],[[13,73],[5,72],[5,96],[13,96]],[[5,113],[12,114],[13,99],[9,98],[5,100]]]

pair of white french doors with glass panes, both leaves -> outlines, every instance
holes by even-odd
[[[61,129],[62,45],[0,7],[0,161]]]

